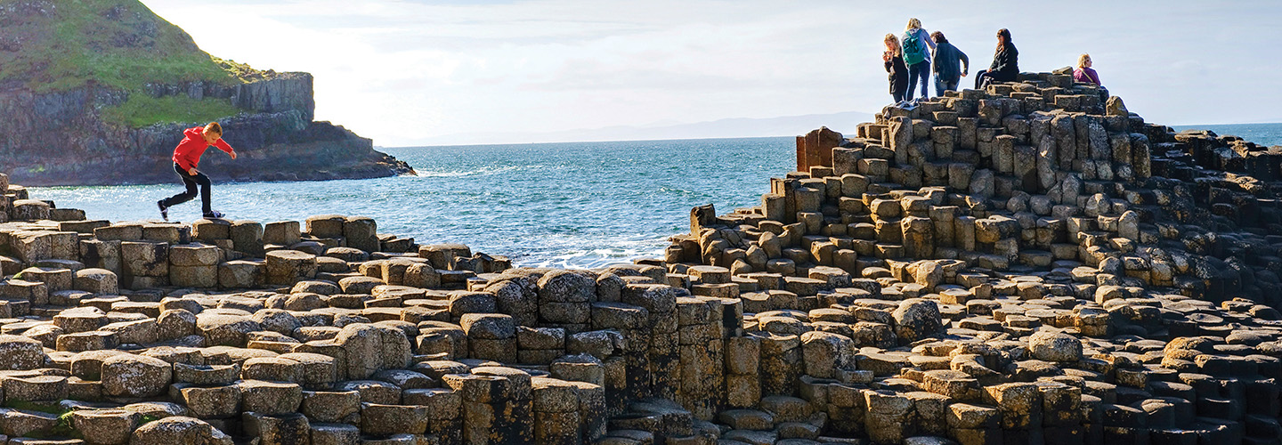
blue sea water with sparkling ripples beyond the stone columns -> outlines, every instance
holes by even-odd
[[[1282,123],[1187,126],[1282,145]],[[382,147],[418,176],[308,182],[218,182],[229,219],[372,217],[378,231],[419,244],[463,242],[524,267],[595,268],[662,256],[688,232],[690,209],[753,206],[769,178],[795,169],[794,137]],[[91,219],[159,218],[155,201],[182,191],[146,186],[32,187],[35,199]],[[197,199],[199,200],[199,199]],[[197,201],[171,218],[200,218]]]

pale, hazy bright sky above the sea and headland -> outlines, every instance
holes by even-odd
[[[1277,0],[142,3],[213,55],[313,73],[317,119],[378,146],[876,113],[891,101],[882,37],[910,17],[969,55],[972,73],[1009,28],[1022,71],[1090,53],[1149,122],[1282,122]]]

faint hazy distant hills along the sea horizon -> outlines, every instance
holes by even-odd
[[[869,122],[872,118],[873,115],[869,113],[845,112],[832,114],[786,115],[777,118],[732,118],[683,124],[617,126],[536,133],[456,133],[432,137],[422,145],[797,136],[805,135],[806,132],[819,127],[828,127],[833,131],[854,133],[858,123]]]

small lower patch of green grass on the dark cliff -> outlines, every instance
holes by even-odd
[[[186,95],[151,97],[135,94],[121,106],[103,109],[103,121],[140,128],[156,123],[206,123],[238,112],[228,99],[194,100]]]

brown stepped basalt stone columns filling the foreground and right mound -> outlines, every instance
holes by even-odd
[[[0,433],[1277,444],[1279,165],[1026,73],[801,136],[762,205],[587,271],[362,217],[92,221],[0,176]]]

